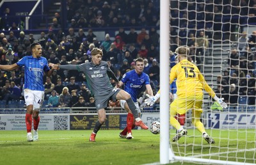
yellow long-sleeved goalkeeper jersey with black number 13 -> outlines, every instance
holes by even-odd
[[[215,96],[214,91],[206,83],[200,70],[188,61],[183,59],[177,63],[170,72],[170,84],[177,78],[177,97],[188,97],[191,95],[203,95],[203,89],[211,97]]]

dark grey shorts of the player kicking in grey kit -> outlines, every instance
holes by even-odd
[[[119,91],[119,88],[113,88],[113,90],[108,95],[95,96],[95,106],[97,111],[99,109],[105,109],[106,107],[108,107],[109,99],[113,100],[113,102],[116,102],[116,95]]]

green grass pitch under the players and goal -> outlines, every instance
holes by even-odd
[[[39,141],[27,142],[26,131],[0,131],[0,162],[1,164],[150,164],[159,162],[159,134],[154,135],[148,130],[133,130],[134,139],[119,138],[120,130],[100,130],[96,142],[88,141],[92,130],[39,130]],[[170,138],[174,135],[171,131]],[[246,162],[255,163],[255,132],[237,134],[236,131],[207,130],[216,140],[216,144],[208,145],[198,131],[188,130],[186,138],[178,143],[171,143],[173,151],[185,151],[195,154],[221,153],[221,159],[230,161],[237,157],[246,157]],[[243,130],[239,130],[243,132]],[[245,130],[244,130],[245,132]],[[189,136],[190,135],[190,136]],[[247,152],[225,153],[229,148],[236,148],[239,139],[240,149],[251,149]],[[228,141],[227,138],[230,138]],[[233,138],[233,139],[232,139]],[[246,138],[246,141],[244,140]],[[254,141],[253,141],[254,140]],[[223,147],[222,150],[218,146]],[[177,153],[175,153],[177,155]],[[216,156],[211,156],[216,159]],[[205,156],[207,158],[209,156]],[[225,159],[226,158],[226,159]],[[175,164],[180,164],[176,162]],[[191,163],[184,163],[191,164]]]

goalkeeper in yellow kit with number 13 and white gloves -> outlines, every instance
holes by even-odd
[[[207,143],[215,143],[214,139],[205,132],[204,124],[200,122],[200,116],[203,112],[203,90],[207,91],[221,107],[226,108],[227,104],[216,96],[196,65],[188,61],[189,48],[178,47],[176,53],[179,63],[177,63],[170,72],[170,83],[177,78],[177,98],[170,104],[170,124],[178,130],[177,134],[173,137],[173,141],[178,141],[181,136],[185,136],[188,133],[187,130],[180,127],[180,123],[174,116],[177,113],[186,114],[186,111],[191,109],[193,125],[202,133]],[[154,97],[147,98],[145,103],[152,106],[159,97],[160,91],[158,91]]]

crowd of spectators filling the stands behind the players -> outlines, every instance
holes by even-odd
[[[247,1],[241,3],[243,6],[248,6],[246,8],[248,10],[247,16],[252,16],[250,21],[255,16],[253,15],[254,8],[252,8],[255,3],[252,2],[250,1],[250,4],[247,4]],[[218,35],[220,30],[223,30],[222,33],[225,34],[236,31],[236,26],[232,24],[230,27],[225,26],[224,29],[220,29],[221,24],[218,23],[218,19],[221,17],[220,11],[231,10],[236,13],[239,10],[242,11],[242,13],[238,11],[239,13],[246,16],[244,10],[234,8],[234,6],[241,6],[241,4],[235,4],[235,1],[232,1],[232,5],[223,5],[222,1],[195,5],[186,2],[181,2],[179,5],[179,1],[171,1],[171,3],[170,50],[174,52],[178,46],[188,45],[191,55],[189,60],[193,61],[199,69],[204,65],[202,57],[212,53],[214,35]],[[184,10],[186,6],[188,10]],[[223,6],[225,10],[223,10]],[[235,9],[236,11],[234,11]],[[202,14],[205,10],[207,10],[206,15]],[[226,15],[231,17],[231,13],[226,13]],[[195,15],[197,20],[194,19]],[[34,41],[40,42],[44,49],[43,54],[49,63],[60,63],[61,65],[90,61],[90,52],[93,47],[99,47],[104,54],[103,60],[108,61],[111,70],[115,72],[118,79],[121,79],[125,72],[134,68],[134,59],[143,58],[144,72],[150,77],[152,90],[154,93],[158,90],[160,72],[159,34],[157,33],[159,1],[68,0],[67,33],[61,30],[60,19],[60,13],[55,13],[49,30],[47,33],[42,31],[39,38],[34,38],[32,33],[25,34],[24,31],[20,31],[19,36],[15,36],[11,26],[6,28],[6,24],[1,24],[2,28],[8,30],[0,34],[0,64],[16,63],[23,56],[31,55],[29,45]],[[241,19],[234,17],[233,20],[241,23],[244,21],[244,17]],[[97,40],[99,37],[93,33],[93,28],[107,27],[120,28],[115,36],[106,33],[105,40]],[[138,28],[140,28],[139,33],[135,30]],[[84,29],[88,29],[88,35],[84,34]],[[125,29],[129,29],[129,33],[125,32]],[[6,38],[5,35],[8,37]],[[247,38],[247,35],[250,36]],[[115,39],[111,40],[111,38]],[[241,37],[237,37],[237,47],[230,51],[228,57],[229,67],[216,80],[216,84],[218,84],[217,95],[220,95],[218,91],[221,91],[221,96],[218,95],[218,97],[224,97],[225,102],[230,103],[230,105],[236,106],[239,103],[239,97],[248,97],[248,104],[255,105],[255,38],[255,31],[252,34],[243,32]],[[170,61],[174,61],[173,53],[170,54]],[[57,70],[51,77],[45,76],[44,81],[45,100],[48,100],[48,106],[79,105],[82,107],[83,104],[83,106],[93,107],[93,97],[83,73],[72,70]],[[1,70],[0,99],[7,101],[22,99],[23,84],[24,70],[22,68],[13,72]],[[116,106],[112,102],[109,106],[111,105]]]

